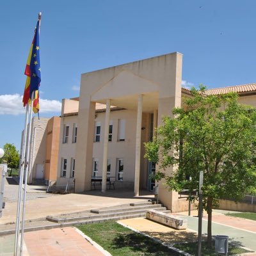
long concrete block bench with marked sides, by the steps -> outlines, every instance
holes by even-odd
[[[176,216],[155,210],[147,211],[146,218],[176,229],[186,229],[188,220],[182,220]]]

